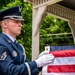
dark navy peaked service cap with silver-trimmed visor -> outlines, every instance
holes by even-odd
[[[12,8],[8,8],[6,10],[3,10],[0,12],[0,21],[4,19],[14,19],[14,20],[24,20],[22,15],[22,7],[21,6],[15,6]]]

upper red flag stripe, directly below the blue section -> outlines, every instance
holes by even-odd
[[[75,56],[75,49],[72,50],[56,50],[56,51],[52,51],[49,52],[52,53],[55,57],[71,57],[71,56]]]

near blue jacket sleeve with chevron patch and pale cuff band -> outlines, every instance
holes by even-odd
[[[8,49],[0,45],[0,73],[1,75],[37,75],[39,71],[35,61],[15,65]]]

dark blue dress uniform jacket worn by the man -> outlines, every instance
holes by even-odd
[[[0,34],[0,75],[37,75],[35,61],[29,62],[23,48],[18,48],[5,34]]]

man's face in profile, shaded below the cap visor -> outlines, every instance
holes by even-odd
[[[5,24],[5,33],[12,37],[16,37],[21,33],[22,24],[20,20],[7,19]]]

